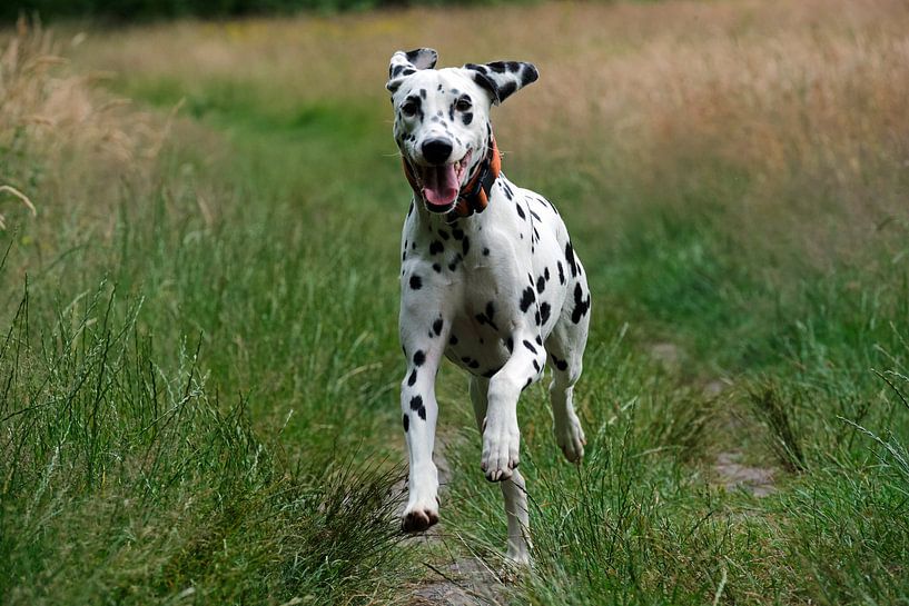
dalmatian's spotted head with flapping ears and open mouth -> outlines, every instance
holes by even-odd
[[[397,51],[388,67],[395,141],[426,208],[448,212],[490,150],[490,108],[534,82],[531,63],[495,61],[435,70],[433,49]]]

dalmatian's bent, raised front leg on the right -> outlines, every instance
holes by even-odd
[[[481,461],[481,468],[490,481],[511,478],[512,470],[520,463],[517,398],[524,388],[540,377],[546,361],[546,352],[532,331],[517,330],[512,339],[514,350],[511,358],[490,379]]]

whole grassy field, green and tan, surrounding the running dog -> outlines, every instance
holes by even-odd
[[[399,534],[418,46],[537,64],[503,166],[593,290],[583,464],[520,407],[523,575],[449,367]],[[21,23],[0,187],[3,604],[909,604],[905,2]]]

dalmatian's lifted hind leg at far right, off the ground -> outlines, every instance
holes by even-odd
[[[580,264],[579,264],[580,266]],[[590,324],[590,291],[582,275],[576,280],[581,301],[565,301],[559,322],[546,339],[546,351],[550,357],[553,380],[550,384],[550,399],[554,421],[555,440],[565,458],[572,463],[584,456],[584,429],[574,411],[574,384],[581,377],[582,358],[587,342]],[[586,292],[586,299],[584,294]],[[577,297],[575,297],[577,298]],[[579,305],[584,310],[579,312]],[[584,307],[586,306],[586,307]]]

